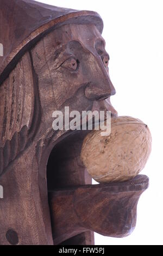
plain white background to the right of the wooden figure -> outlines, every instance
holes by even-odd
[[[40,0],[47,4],[97,11],[110,55],[109,73],[116,88],[111,97],[118,114],[140,118],[153,137],[151,157],[142,174],[150,186],[139,200],[134,232],[122,239],[95,234],[96,245],[163,244],[163,1]]]

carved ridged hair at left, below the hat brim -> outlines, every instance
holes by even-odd
[[[26,52],[0,86],[0,175],[34,136],[38,119],[35,82],[32,61]]]

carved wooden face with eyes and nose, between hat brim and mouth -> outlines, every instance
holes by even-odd
[[[44,37],[32,49],[46,127],[52,112],[108,109],[115,88],[109,78],[109,55],[95,25],[65,25]],[[106,99],[106,100],[104,100]]]

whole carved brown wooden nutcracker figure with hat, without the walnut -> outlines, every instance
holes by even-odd
[[[103,22],[93,11],[0,0],[1,245],[93,245],[93,231],[135,227],[148,178],[91,185],[80,161],[87,131],[52,128],[55,110],[110,110]]]

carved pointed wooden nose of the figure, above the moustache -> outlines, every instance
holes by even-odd
[[[90,100],[106,99],[116,93],[108,73],[103,65],[99,63],[96,75],[91,78],[91,82],[85,88],[85,96]]]

